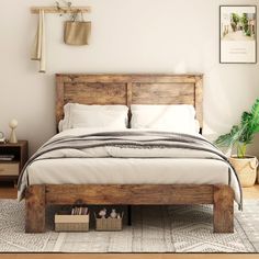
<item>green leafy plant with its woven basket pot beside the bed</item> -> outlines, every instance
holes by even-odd
[[[256,182],[258,160],[255,156],[247,155],[247,145],[252,143],[257,133],[259,133],[259,99],[250,112],[243,113],[238,125],[234,125],[229,133],[215,140],[218,147],[236,147],[237,155],[230,156],[229,162],[235,168],[241,187],[252,187]]]

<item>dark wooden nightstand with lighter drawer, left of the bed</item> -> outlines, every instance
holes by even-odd
[[[3,156],[12,156],[1,158]],[[27,140],[19,140],[15,144],[0,144],[0,181],[18,181],[19,174],[27,161]]]

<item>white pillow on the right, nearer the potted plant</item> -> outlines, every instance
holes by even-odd
[[[131,105],[132,128],[153,128],[196,134],[195,110],[192,105]]]

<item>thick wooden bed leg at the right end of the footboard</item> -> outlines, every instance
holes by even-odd
[[[214,187],[214,233],[234,233],[234,191],[228,185]]]

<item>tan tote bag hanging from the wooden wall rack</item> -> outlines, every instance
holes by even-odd
[[[91,33],[91,22],[77,21],[78,12],[72,15],[72,21],[65,22],[64,42],[68,45],[82,46],[88,45],[88,40]]]

